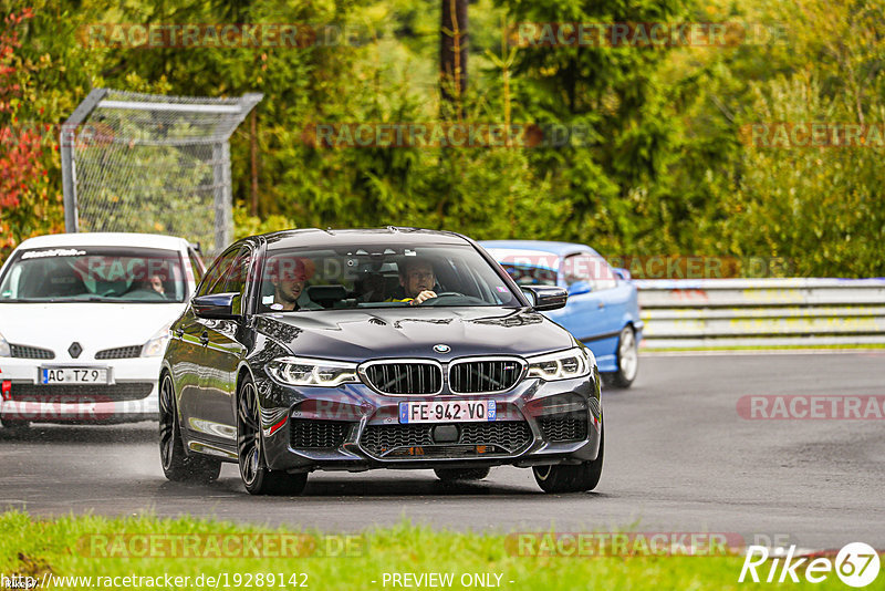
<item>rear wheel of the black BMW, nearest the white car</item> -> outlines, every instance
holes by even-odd
[[[175,385],[168,373],[159,382],[159,459],[163,474],[174,483],[211,483],[221,473],[221,462],[188,455],[178,424]]]

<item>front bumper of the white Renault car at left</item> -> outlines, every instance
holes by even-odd
[[[162,357],[107,361],[0,359],[0,419],[31,423],[132,423],[156,421]],[[106,384],[41,383],[43,367],[106,369]]]

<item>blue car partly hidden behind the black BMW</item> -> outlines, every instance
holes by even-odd
[[[565,308],[544,314],[569,330],[596,356],[612,385],[629,387],[639,369],[643,334],[636,286],[586,245],[540,240],[480,242],[520,286],[569,290]]]

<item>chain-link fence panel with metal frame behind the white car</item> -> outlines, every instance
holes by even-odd
[[[96,89],[62,128],[67,231],[231,241],[228,139],[261,94],[207,98]]]

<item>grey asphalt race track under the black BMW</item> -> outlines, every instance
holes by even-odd
[[[595,492],[544,495],[528,469],[448,487],[429,470],[314,473],[302,497],[246,494],[235,465],[207,486],[168,483],[156,425],[0,429],[0,506],[34,515],[195,515],[352,531],[416,522],[476,531],[737,532],[804,548],[885,547],[882,421],[749,421],[758,394],[885,394],[885,352],[643,356],[604,391]],[[758,538],[766,541],[766,538]]]

